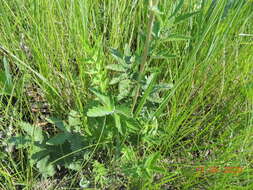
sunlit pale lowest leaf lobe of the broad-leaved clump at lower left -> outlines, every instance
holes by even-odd
[[[52,164],[49,162],[49,156],[41,159],[37,162],[37,168],[39,172],[43,175],[43,177],[53,176],[55,174],[55,169]]]

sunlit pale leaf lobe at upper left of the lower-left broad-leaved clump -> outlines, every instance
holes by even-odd
[[[44,140],[41,128],[25,122],[20,122],[19,125],[29,136],[34,139],[34,141],[42,142]]]

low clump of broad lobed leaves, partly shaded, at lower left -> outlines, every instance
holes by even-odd
[[[80,118],[74,111],[70,112],[68,123],[59,119],[50,118],[59,131],[53,137],[49,137],[38,126],[21,122],[19,126],[25,135],[17,135],[9,139],[9,145],[16,148],[27,148],[31,165],[36,165],[39,172],[44,176],[53,176],[56,167],[65,167],[72,170],[81,168],[81,161],[85,147],[85,141],[80,134]]]

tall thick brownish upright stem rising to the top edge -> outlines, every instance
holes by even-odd
[[[150,8],[156,7],[158,5],[158,1],[159,0],[151,0],[150,1]],[[150,10],[149,14],[150,14],[150,16],[149,16],[149,22],[148,22],[148,27],[147,27],[146,41],[145,41],[145,46],[144,46],[141,64],[140,64],[140,73],[138,76],[138,84],[136,87],[136,93],[135,93],[134,99],[133,99],[132,113],[134,112],[134,108],[136,106],[137,99],[140,94],[140,88],[141,88],[140,81],[141,81],[141,77],[142,77],[143,73],[145,72],[145,66],[146,66],[147,57],[148,57],[149,45],[150,45],[150,41],[152,40],[152,29],[153,29],[153,23],[155,21],[155,12]]]

